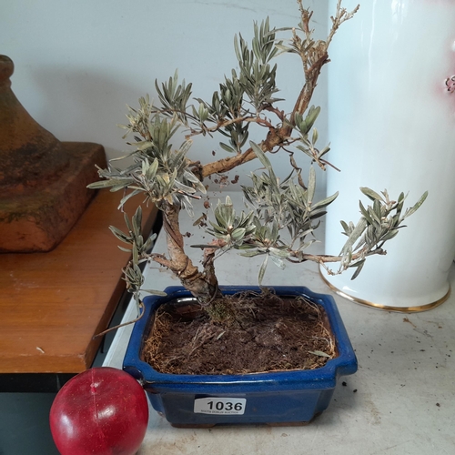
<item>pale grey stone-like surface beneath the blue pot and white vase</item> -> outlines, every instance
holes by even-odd
[[[231,197],[236,207],[241,207],[240,196]],[[184,221],[183,231],[192,231],[191,224],[190,220]],[[199,242],[204,235],[199,231],[188,244]],[[165,250],[164,236],[160,234],[154,251]],[[197,251],[190,252],[197,263]],[[217,272],[222,284],[255,285],[258,267],[258,261],[239,258],[234,253],[230,260],[217,264]],[[453,267],[450,282],[453,288]],[[176,284],[167,270],[154,265],[147,268],[145,288]],[[171,427],[150,408],[147,435],[139,455],[455,453],[453,293],[438,308],[403,314],[359,306],[331,293],[314,264],[289,267],[286,272],[270,266],[264,284],[305,285],[315,292],[331,294],[356,350],[359,371],[341,379],[329,409],[305,427],[181,430]],[[130,304],[124,320],[135,316],[136,308]],[[117,332],[105,365],[121,368],[131,329],[127,326]]]

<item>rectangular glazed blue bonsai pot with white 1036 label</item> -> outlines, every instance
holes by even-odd
[[[123,369],[139,380],[155,410],[176,427],[217,424],[307,423],[329,406],[340,376],[357,371],[357,359],[329,295],[303,287],[275,287],[280,296],[304,296],[325,308],[338,357],[319,369],[291,370],[244,375],[176,375],[159,373],[142,360],[142,348],[154,312],[163,303],[191,298],[184,288],[165,289],[167,297],[144,299],[145,314],[136,322]],[[258,291],[257,287],[225,287],[224,294]]]

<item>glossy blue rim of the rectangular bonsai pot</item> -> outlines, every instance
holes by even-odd
[[[187,289],[180,286],[171,286],[165,289],[167,297],[147,296],[144,298],[144,315],[136,321],[131,338],[126,349],[123,369],[147,386],[181,387],[184,384],[197,385],[231,385],[256,386],[258,383],[268,388],[285,386],[287,389],[296,389],[296,385],[311,389],[329,389],[335,387],[339,376],[353,374],[357,371],[357,359],[349,340],[348,333],[339,315],[335,300],[328,294],[312,292],[303,286],[270,286],[280,296],[297,297],[303,295],[313,303],[321,305],[327,313],[330,329],[339,352],[338,357],[329,359],[319,369],[294,369],[284,371],[269,371],[247,374],[229,375],[189,375],[159,373],[147,362],[141,359],[141,351],[146,334],[149,333],[151,316],[158,306],[171,299],[191,298]],[[220,286],[220,290],[227,295],[240,291],[260,291],[258,286]]]

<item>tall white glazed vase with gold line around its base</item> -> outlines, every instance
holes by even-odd
[[[337,0],[329,0],[335,11]],[[352,10],[358,1],[344,0]],[[408,227],[367,259],[359,278],[321,270],[340,295],[376,308],[421,311],[449,297],[455,256],[455,1],[367,0],[339,28],[330,48],[326,252],[345,237],[339,220],[357,222],[359,187],[390,197],[408,193]]]

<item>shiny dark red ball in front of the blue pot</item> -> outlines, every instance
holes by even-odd
[[[87,369],[66,382],[50,411],[62,455],[133,455],[147,430],[144,389],[121,369]]]

